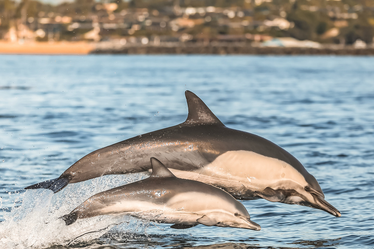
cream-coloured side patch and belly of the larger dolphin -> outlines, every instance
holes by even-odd
[[[245,187],[261,191],[291,182],[307,184],[300,172],[285,161],[244,150],[228,151],[195,171],[169,170],[179,178],[225,186],[225,189]]]

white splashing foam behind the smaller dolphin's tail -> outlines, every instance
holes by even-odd
[[[90,196],[129,182],[146,178],[145,173],[126,176],[104,176],[85,182],[69,184],[54,194],[50,190],[32,189],[19,194],[10,212],[4,212],[0,223],[0,248],[29,249],[52,245],[67,246],[92,241],[104,233],[135,232],[145,226],[128,216],[101,215],[77,220],[66,226],[60,219]],[[17,203],[21,203],[16,206]],[[107,236],[110,236],[107,234]]]

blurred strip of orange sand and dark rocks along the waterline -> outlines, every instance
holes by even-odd
[[[179,43],[129,44],[105,42],[31,42],[0,41],[0,54],[279,54],[279,55],[374,55],[374,48],[326,45],[308,47],[265,47],[250,43]]]

